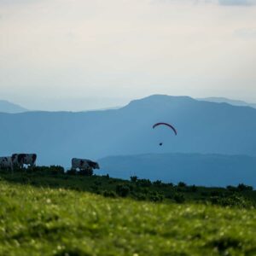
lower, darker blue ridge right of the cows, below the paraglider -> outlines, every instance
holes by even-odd
[[[99,160],[100,174],[207,186],[246,183],[256,187],[256,157],[221,154],[140,154]]]

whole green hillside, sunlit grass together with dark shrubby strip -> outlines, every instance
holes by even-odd
[[[207,189],[137,177],[124,181],[67,175],[57,168],[41,171],[0,173],[1,255],[256,253],[254,191],[247,186]],[[140,189],[163,198],[155,203],[145,193],[147,198],[139,199]],[[106,191],[114,198],[102,196]],[[184,201],[175,203],[167,191],[178,191]],[[247,204],[215,205],[210,198],[218,193]]]

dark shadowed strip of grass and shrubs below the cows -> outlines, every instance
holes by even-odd
[[[131,181],[106,176],[86,176],[83,172],[64,172],[61,166],[40,166],[23,170],[0,171],[0,177],[9,183],[32,185],[38,188],[70,189],[90,192],[105,197],[129,197],[137,201],[195,202],[223,207],[255,207],[256,191],[239,188],[205,188],[185,183],[150,182],[131,177]]]

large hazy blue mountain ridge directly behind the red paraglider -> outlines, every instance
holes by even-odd
[[[159,121],[174,125],[177,136],[167,127],[152,129]],[[148,96],[124,108],[85,113],[0,113],[0,127],[0,155],[35,152],[45,165],[120,154],[256,156],[256,109],[187,96]]]

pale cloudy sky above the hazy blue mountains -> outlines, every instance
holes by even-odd
[[[0,99],[29,109],[256,102],[255,67],[256,0],[0,0]]]

